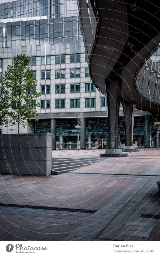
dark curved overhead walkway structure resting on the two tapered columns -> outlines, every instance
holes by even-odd
[[[160,3],[79,0],[80,22],[92,81],[106,95],[106,79],[122,79],[121,98],[158,112],[159,103],[137,90],[136,74],[158,48]]]

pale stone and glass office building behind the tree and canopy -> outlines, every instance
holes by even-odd
[[[0,76],[12,58],[25,53],[36,70],[39,121],[21,133],[54,133],[55,149],[107,148],[107,98],[92,84],[80,31],[77,1],[0,1]],[[1,91],[0,91],[1,95]],[[136,110],[134,145],[143,147],[148,114]],[[119,146],[125,145],[120,106]],[[80,130],[75,126],[79,124]],[[13,127],[16,129],[17,127]],[[1,133],[10,129],[0,126]],[[147,130],[148,132],[148,130]],[[85,146],[84,146],[85,144]]]

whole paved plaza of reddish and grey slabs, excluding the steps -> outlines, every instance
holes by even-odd
[[[57,150],[53,158],[104,150]],[[160,150],[47,177],[0,179],[1,241],[160,241]],[[7,204],[7,205],[6,205]]]

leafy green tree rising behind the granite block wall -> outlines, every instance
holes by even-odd
[[[24,128],[27,120],[31,118],[38,120],[34,106],[40,107],[36,98],[41,93],[35,92],[37,80],[34,78],[35,70],[29,65],[29,57],[25,54],[13,58],[13,66],[8,65],[0,82],[2,97],[0,97],[1,125],[9,124]]]

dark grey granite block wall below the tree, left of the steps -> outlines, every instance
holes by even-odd
[[[1,134],[0,173],[51,174],[52,134]]]

